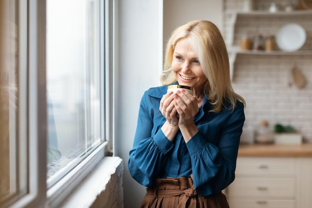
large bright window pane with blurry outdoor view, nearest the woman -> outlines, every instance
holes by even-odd
[[[48,187],[101,141],[98,0],[47,0]]]

